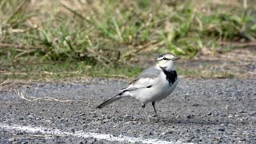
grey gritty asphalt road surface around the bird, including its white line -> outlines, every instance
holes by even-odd
[[[96,110],[125,80],[15,84],[0,91],[0,143],[256,143],[256,79],[181,78],[146,117],[134,98]],[[151,104],[146,105],[153,115]]]

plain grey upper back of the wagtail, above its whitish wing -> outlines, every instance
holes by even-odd
[[[151,66],[150,68],[144,70],[142,74],[138,76],[138,78],[157,78],[159,77],[161,70],[157,69],[155,66]]]

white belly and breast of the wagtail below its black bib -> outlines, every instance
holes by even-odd
[[[154,84],[150,88],[134,90],[130,95],[144,104],[148,102],[157,102],[168,97],[174,91],[177,84],[178,79],[170,85],[166,80],[166,75],[161,73],[158,83]]]

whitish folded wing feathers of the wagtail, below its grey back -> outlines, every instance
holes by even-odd
[[[125,88],[120,91],[130,91],[130,90],[138,90],[142,88],[150,88],[152,85],[156,83],[156,78],[139,78],[134,80],[134,82],[130,82]]]

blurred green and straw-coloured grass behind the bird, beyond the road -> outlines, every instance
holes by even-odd
[[[130,78],[142,70],[138,57],[225,52],[229,42],[255,42],[255,4],[1,0],[0,78]]]

